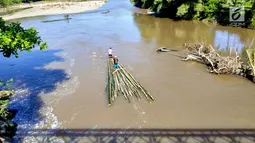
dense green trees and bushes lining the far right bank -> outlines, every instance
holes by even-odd
[[[229,7],[245,7],[245,26],[255,26],[254,0],[132,0],[135,6],[150,9],[173,19],[214,20],[229,24]]]

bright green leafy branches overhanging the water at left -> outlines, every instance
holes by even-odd
[[[18,51],[31,51],[36,45],[41,50],[47,48],[34,28],[24,29],[20,23],[7,24],[0,18],[0,52],[4,57],[18,57]]]

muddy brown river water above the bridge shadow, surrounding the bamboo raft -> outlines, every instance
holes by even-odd
[[[103,14],[101,10],[109,9]],[[255,31],[196,21],[172,21],[139,14],[128,0],[110,0],[96,12],[25,18],[46,51],[0,58],[0,77],[14,78],[18,128],[254,128],[254,84],[244,78],[209,74],[203,65],[183,62],[161,46],[180,49],[185,42],[206,42],[240,52]],[[255,45],[253,45],[255,46]],[[107,50],[153,95],[156,102],[132,103],[119,97],[107,106]]]

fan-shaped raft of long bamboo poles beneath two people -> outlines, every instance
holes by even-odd
[[[136,97],[142,99],[142,95],[149,103],[155,101],[150,93],[123,67],[119,64],[119,68],[113,68],[113,59],[108,59],[108,106],[111,106],[119,95],[123,95],[128,102],[131,98]]]

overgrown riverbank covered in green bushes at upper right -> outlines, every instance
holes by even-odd
[[[229,1],[206,0],[195,3],[186,1],[175,3],[158,0],[131,0],[132,4],[138,8],[149,9],[148,14],[156,17],[167,17],[173,20],[199,20],[215,22],[222,26],[255,28],[255,3],[252,0],[242,1],[238,4]],[[231,20],[234,14],[232,7],[243,7],[240,12],[239,21]]]

